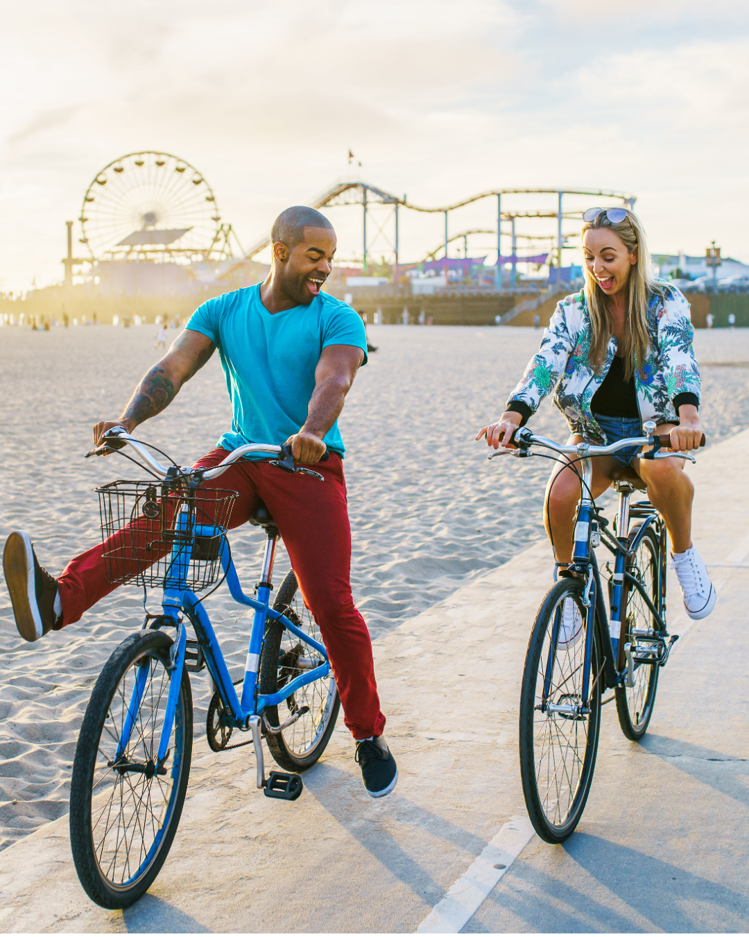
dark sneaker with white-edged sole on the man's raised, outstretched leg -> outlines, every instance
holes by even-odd
[[[14,530],[7,538],[3,572],[22,638],[36,641],[52,628],[62,628],[62,615],[54,611],[57,580],[39,566],[31,538],[22,530]]]

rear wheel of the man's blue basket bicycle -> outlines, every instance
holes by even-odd
[[[283,612],[316,641],[322,642],[316,620],[304,604],[293,570],[286,573],[273,608]],[[308,669],[309,663],[322,661],[322,656],[311,651],[309,646],[303,655],[301,649],[296,636],[287,632],[280,622],[269,619],[260,659],[260,693],[278,692],[289,680]],[[298,666],[301,660],[305,667]],[[265,736],[273,759],[287,771],[303,771],[313,766],[330,741],[341,706],[332,671],[327,677],[308,683],[301,691],[293,693],[280,706],[269,706],[264,712],[272,725],[280,725],[302,706],[309,706],[310,711],[278,735],[266,732]]]

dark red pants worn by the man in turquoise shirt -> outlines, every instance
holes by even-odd
[[[226,458],[214,449],[195,468]],[[304,602],[316,618],[335,675],[345,724],[354,738],[380,736],[385,717],[374,680],[372,641],[351,597],[351,530],[348,523],[344,468],[340,456],[315,466],[325,482],[290,475],[268,462],[240,461],[205,487],[239,492],[229,528],[245,524],[263,501],[286,544]],[[59,580],[66,625],[115,587],[107,582],[101,545],[71,559]]]

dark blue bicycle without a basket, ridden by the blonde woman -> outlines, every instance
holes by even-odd
[[[536,833],[547,842],[562,842],[580,822],[593,782],[601,706],[615,700],[624,736],[641,738],[653,715],[660,668],[678,640],[666,624],[666,525],[650,501],[630,503],[644,483],[632,468],[614,469],[619,507],[613,529],[591,497],[595,456],[648,446],[639,458],[695,461],[664,452],[669,438],[654,436],[653,422],[643,429],[645,436],[609,446],[563,446],[522,427],[513,437],[517,449],[489,456],[528,458],[541,454],[534,447],[551,450],[555,455],[547,458],[565,460],[580,477],[572,563],[557,567],[538,609],[521,685],[522,791]],[[601,544],[612,555],[603,570],[595,556]],[[602,700],[606,690],[613,694]]]

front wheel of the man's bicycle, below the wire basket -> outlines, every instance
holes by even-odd
[[[134,668],[146,663],[146,685],[125,759],[134,763],[141,758],[142,766],[149,758],[155,760],[158,721],[163,718],[169,691],[165,664],[172,643],[160,631],[141,631],[125,638],[104,665],[83,716],[70,780],[70,846],[83,889],[103,908],[126,908],[145,894],[169,855],[180,822],[193,744],[192,691],[184,668],[167,773],[149,778],[145,772],[117,771],[110,764],[131,700]],[[129,819],[126,811],[131,811]],[[135,848],[138,855],[131,860]]]

